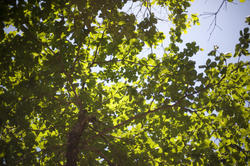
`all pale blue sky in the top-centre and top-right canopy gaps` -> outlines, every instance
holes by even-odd
[[[225,3],[221,6],[223,1],[225,1]],[[218,51],[221,53],[233,53],[235,45],[238,43],[240,37],[240,30],[249,27],[245,23],[245,18],[250,15],[250,0],[246,0],[244,3],[241,3],[239,0],[234,1],[233,3],[229,3],[226,0],[194,0],[194,2],[191,3],[188,13],[198,14],[200,25],[192,26],[188,29],[187,34],[183,34],[183,43],[180,44],[180,48],[185,47],[187,42],[195,41],[200,48],[204,49],[204,51],[200,51],[197,55],[192,57],[192,60],[196,61],[198,71],[202,71],[198,66],[205,64],[207,58],[211,58],[208,57],[207,54],[214,49],[215,45],[219,46]],[[130,7],[131,3],[128,3],[123,10],[128,13],[136,13],[136,11],[140,9],[140,5],[138,4],[133,5],[132,10],[129,10]],[[220,10],[216,16],[217,25],[213,30],[214,24],[212,23],[214,21],[214,15],[206,14],[215,13],[219,8]],[[158,21],[157,28],[166,35],[163,47],[167,47],[169,44],[168,31],[172,26],[167,20],[167,15],[169,13],[165,8],[159,7],[153,7],[152,11],[156,14],[156,17],[164,19],[164,21]],[[163,54],[163,47],[159,46],[154,49],[153,52],[156,53],[158,57],[161,57]],[[150,52],[151,49],[144,47],[144,50],[138,56],[145,57]],[[238,59],[235,58],[228,61],[237,62],[237,60]],[[250,57],[241,57],[241,60],[249,61]]]

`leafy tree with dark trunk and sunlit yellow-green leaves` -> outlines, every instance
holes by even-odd
[[[247,165],[248,28],[198,73],[199,46],[179,49],[199,22],[190,3],[2,0],[1,165]],[[168,35],[153,6],[169,11]]]

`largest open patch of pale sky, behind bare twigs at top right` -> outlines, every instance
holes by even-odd
[[[217,15],[217,27],[212,32],[210,24],[214,17],[202,15],[208,12],[216,12],[223,0],[195,0],[189,11],[191,13],[201,14],[200,25],[193,26],[188,30],[187,34],[183,35],[184,43],[196,41],[198,45],[204,49],[199,52],[194,59],[197,64],[204,64],[207,59],[207,53],[213,50],[214,45],[219,46],[219,52],[233,52],[235,45],[238,43],[239,32],[245,27],[249,27],[245,23],[245,17],[250,15],[250,0],[245,3],[240,3],[236,0],[235,3],[225,3]],[[212,33],[211,33],[212,32]],[[211,36],[210,36],[211,33]],[[241,58],[244,61],[249,61],[250,57]]]

